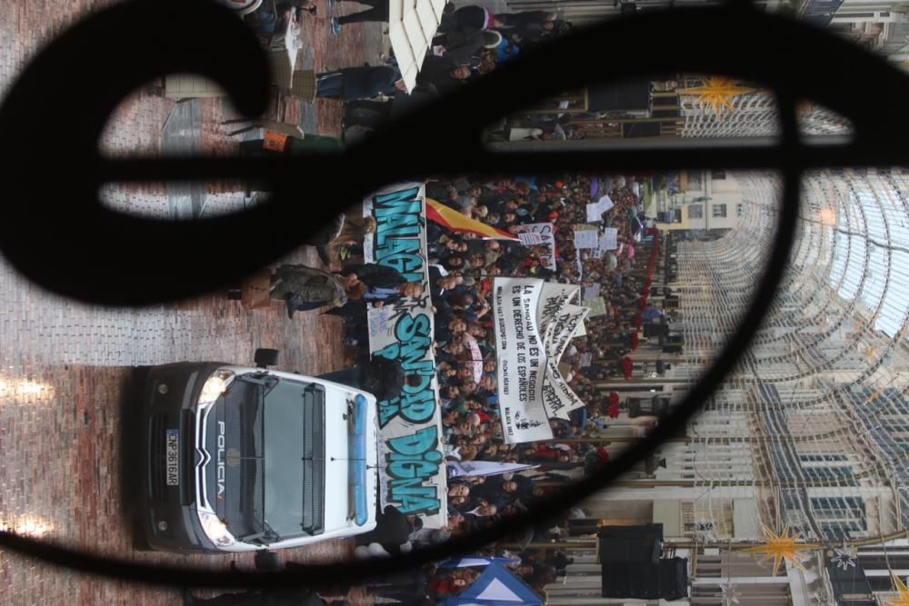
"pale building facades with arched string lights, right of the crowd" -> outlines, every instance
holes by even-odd
[[[894,598],[892,574],[909,575],[905,173],[805,177],[789,270],[749,351],[684,436],[655,453],[663,465],[586,503],[604,525],[662,523],[664,547],[689,561],[687,603],[870,606]],[[684,352],[635,352],[635,362],[673,363],[664,377],[641,379],[641,394],[684,396],[750,303],[780,189],[774,174],[729,176],[740,188],[739,223],[722,237],[674,238],[673,329]],[[625,417],[604,438],[655,420]],[[786,528],[815,545],[801,567],[774,571],[745,551]],[[580,568],[550,587],[550,603],[640,603],[598,597],[595,556],[578,552]]]

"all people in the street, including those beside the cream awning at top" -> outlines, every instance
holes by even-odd
[[[335,1],[330,4],[334,6]],[[343,35],[344,25],[349,23],[387,20],[386,2],[365,0],[361,4],[369,8],[332,19],[335,35]],[[278,5],[276,18],[301,18],[304,11],[314,12],[315,4],[291,0]],[[267,19],[260,23],[267,24]],[[445,94],[570,28],[569,22],[545,11],[495,15],[483,6],[455,8],[449,4],[413,94],[405,93],[395,65],[380,65],[319,74],[316,96],[347,102],[345,127],[372,128],[391,116],[395,101],[402,97]],[[392,103],[372,101],[380,94],[392,97]],[[259,144],[261,141],[246,144],[247,153],[260,152]],[[648,320],[662,315],[661,310],[646,305],[650,284],[642,269],[656,233],[644,216],[643,182],[632,175],[502,176],[483,181],[460,177],[430,180],[425,191],[427,199],[494,228],[503,237],[483,239],[451,224],[428,223],[429,293],[424,293],[420,283],[407,282],[395,269],[365,263],[364,239],[375,231],[375,221],[364,218],[361,209],[350,209],[307,242],[317,248],[323,267],[278,267],[271,296],[285,303],[291,318],[304,312],[342,317],[351,368],[325,378],[355,383],[382,400],[394,398],[415,377],[370,359],[368,309],[428,294],[435,313],[433,351],[446,459],[534,467],[504,475],[450,477],[448,521],[441,529],[423,528],[420,518],[386,507],[375,531],[356,538],[360,557],[387,557],[483,530],[550,494],[554,490],[551,484],[557,482],[547,481],[576,479],[578,473],[592,472],[607,462],[609,455],[602,447],[560,440],[597,435],[610,418],[619,415],[622,402],[618,393],[604,393],[594,381],[628,378],[627,356],[637,347],[643,314],[650,313]],[[587,205],[604,195],[613,205],[592,221]],[[526,243],[516,237],[534,224],[549,224],[552,237],[528,238]],[[615,248],[606,252],[577,249],[574,232],[579,224],[616,230]],[[568,384],[585,406],[571,412],[569,420],[550,422],[552,441],[515,445],[503,438],[491,302],[493,280],[499,275],[580,284],[584,289],[596,289],[603,298],[605,312],[587,319],[586,336],[574,338],[561,361],[567,364]],[[514,537],[514,542],[549,542],[580,533],[572,522],[584,515],[575,509],[562,520],[540,521],[526,535]],[[492,547],[481,555],[504,557],[510,569],[541,595],[548,583],[564,575],[570,563],[557,549],[504,551]],[[464,591],[478,574],[471,567],[432,566],[402,571],[400,578],[385,577],[368,587],[386,599],[435,604]]]

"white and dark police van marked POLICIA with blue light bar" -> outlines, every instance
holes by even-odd
[[[141,527],[148,546],[225,552],[300,547],[375,528],[375,397],[255,368],[147,370]]]

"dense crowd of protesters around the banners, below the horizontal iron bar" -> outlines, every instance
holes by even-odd
[[[442,529],[424,529],[419,518],[387,508],[377,533],[358,538],[362,556],[410,550],[483,530],[503,516],[533,506],[553,490],[549,484],[554,482],[541,486],[540,480],[574,479],[608,461],[608,452],[602,447],[559,440],[597,435],[611,417],[618,416],[622,405],[618,394],[602,392],[594,381],[621,377],[627,354],[637,346],[641,316],[662,313],[652,305],[642,307],[643,268],[649,255],[640,249],[651,246],[647,240],[653,236],[646,226],[636,183],[633,177],[623,175],[563,175],[503,176],[485,181],[454,178],[426,184],[427,198],[503,233],[522,233],[528,224],[552,225],[553,238],[537,244],[484,240],[432,222],[426,226],[445,456],[450,462],[514,462],[535,467],[504,475],[450,478],[449,517]],[[605,194],[614,204],[590,222],[587,205]],[[380,398],[393,398],[406,383],[418,378],[404,376],[400,369],[395,373],[387,367],[375,368],[380,362],[370,358],[367,310],[424,293],[419,283],[406,282],[392,268],[363,263],[363,240],[375,230],[375,222],[361,214],[359,209],[352,209],[309,240],[317,247],[324,267],[279,267],[273,279],[273,297],[285,302],[292,317],[302,310],[320,309],[344,318],[345,345],[354,366],[326,378],[368,387]],[[617,247],[601,253],[576,249],[577,225],[591,223],[596,228],[616,229]],[[586,336],[574,338],[562,359],[569,369],[569,385],[585,406],[571,412],[569,420],[551,421],[553,441],[504,442],[490,300],[497,275],[577,283],[585,290],[597,289],[604,299],[605,313],[586,320]],[[550,541],[564,538],[570,531],[567,520],[547,521],[541,522],[532,535],[515,540]],[[564,554],[557,551],[508,555],[514,559],[514,571],[537,591],[564,569],[556,565],[564,562]],[[471,569],[435,568],[410,577],[406,591],[399,582],[377,581],[373,589],[388,597],[395,594],[401,598],[406,593],[412,598],[420,595],[435,600],[461,591],[469,585],[469,575],[475,573]],[[414,592],[414,583],[423,588],[422,592]]]

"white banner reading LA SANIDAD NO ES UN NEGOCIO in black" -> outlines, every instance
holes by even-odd
[[[543,280],[494,278],[499,412],[505,443],[553,437],[543,405],[546,351],[536,324]]]

